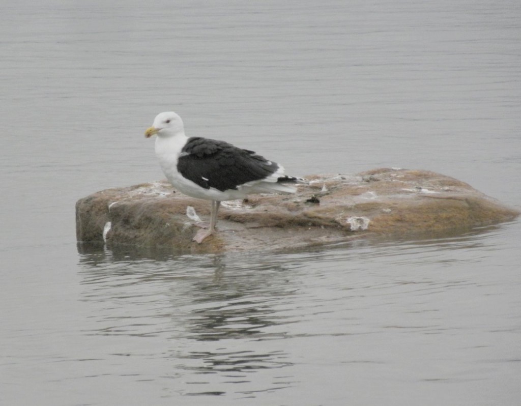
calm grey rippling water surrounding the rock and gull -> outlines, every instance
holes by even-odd
[[[308,251],[75,241],[173,109],[292,175],[428,169],[521,208],[521,6],[0,5],[0,403],[521,404],[521,222]]]

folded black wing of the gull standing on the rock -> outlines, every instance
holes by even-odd
[[[200,137],[188,139],[177,164],[185,178],[202,188],[215,188],[221,192],[264,179],[278,168],[276,162],[270,162],[253,151]]]

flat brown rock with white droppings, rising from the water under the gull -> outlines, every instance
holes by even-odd
[[[176,192],[166,181],[103,190],[76,203],[77,239],[194,253],[274,250],[361,237],[454,235],[519,214],[467,183],[424,170],[307,178],[309,186],[296,194],[223,202],[218,232],[202,244],[192,242],[193,219],[208,218],[209,201]],[[187,215],[189,206],[195,212]]]

